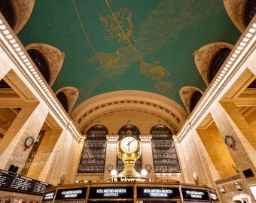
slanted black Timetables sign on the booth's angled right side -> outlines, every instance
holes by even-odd
[[[207,190],[181,188],[181,191],[184,199],[210,200]]]

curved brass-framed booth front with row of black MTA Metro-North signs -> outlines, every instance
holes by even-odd
[[[186,183],[76,183],[47,188],[43,202],[219,202],[215,189]]]

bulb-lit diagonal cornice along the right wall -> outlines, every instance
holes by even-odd
[[[221,96],[228,91],[228,88],[231,86],[230,84],[233,83],[233,80],[235,80],[233,78],[234,74],[236,74],[238,71],[244,71],[241,70],[241,68],[247,68],[244,63],[246,59],[248,59],[248,56],[250,56],[255,50],[255,32],[256,16],[254,16],[247,29],[245,29],[245,32],[236,42],[233,50],[227,57],[227,60],[222,65],[222,68],[220,68],[218,71],[218,74],[216,74],[215,80],[213,80],[206,89],[197,107],[194,108],[194,111],[188,117],[187,122],[184,123],[184,126],[180,132],[174,136],[176,141],[182,141],[192,126],[195,127],[200,124],[200,120],[209,114],[211,105],[214,104],[216,100],[219,101]],[[242,67],[242,65],[244,67]]]

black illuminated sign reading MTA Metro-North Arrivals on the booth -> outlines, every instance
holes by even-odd
[[[91,187],[89,198],[133,198],[133,186]]]

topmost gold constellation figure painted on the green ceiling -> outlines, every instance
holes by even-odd
[[[99,20],[104,26],[105,30],[109,32],[110,36],[105,36],[105,40],[111,41],[119,38],[119,41],[126,41],[130,44],[130,38],[136,41],[133,32],[132,11],[126,8],[120,8],[120,11],[113,12],[110,15],[100,15]]]

